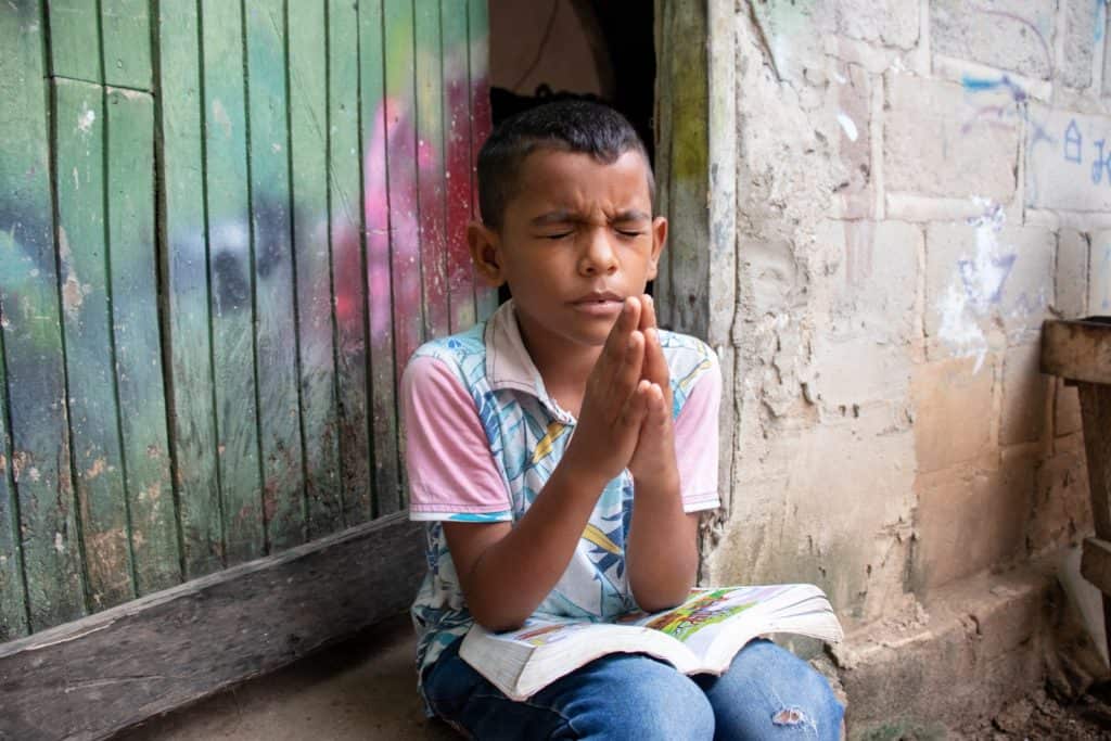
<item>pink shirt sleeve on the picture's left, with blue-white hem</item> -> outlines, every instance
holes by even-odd
[[[401,379],[412,520],[512,520],[509,489],[490,454],[474,401],[436,358],[413,359]]]

